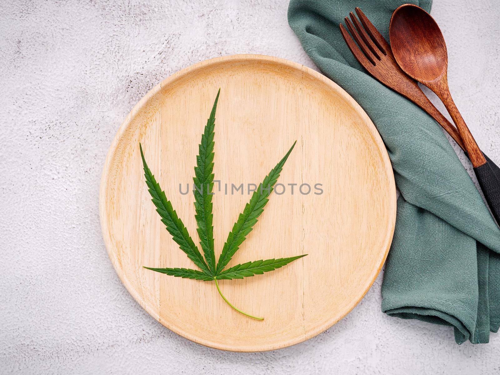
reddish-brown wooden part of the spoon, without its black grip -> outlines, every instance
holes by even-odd
[[[472,165],[483,165],[486,159],[451,98],[446,43],[434,18],[419,6],[401,5],[392,13],[389,37],[399,66],[441,99],[458,129]]]

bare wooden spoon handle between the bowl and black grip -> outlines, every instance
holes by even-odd
[[[455,102],[453,101],[453,98],[451,97],[446,74],[443,74],[435,81],[428,82],[427,87],[429,87],[432,91],[434,91],[434,93],[439,97],[439,99],[441,99],[444,106],[446,107],[446,110],[453,119],[453,122],[455,123],[456,128],[458,129],[460,137],[462,138],[463,141],[463,145],[468,153],[470,162],[472,163],[473,167],[477,168],[485,164],[486,159],[484,158],[484,155],[479,149],[479,146],[477,145],[474,137],[470,133],[467,124],[463,120],[460,112],[458,111],[458,108],[455,105]]]

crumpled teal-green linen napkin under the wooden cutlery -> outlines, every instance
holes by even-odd
[[[500,230],[441,127],[367,75],[338,27],[359,6],[388,40],[390,16],[403,3],[291,0],[288,22],[314,63],[370,116],[392,162],[401,194],[382,311],[451,325],[457,343],[484,343],[500,325]],[[430,11],[430,0],[413,3]]]

